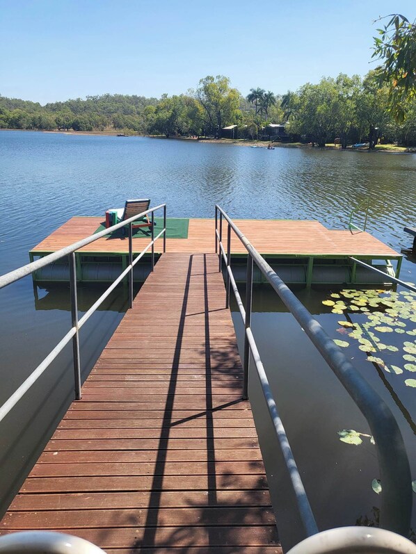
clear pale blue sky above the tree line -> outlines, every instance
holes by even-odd
[[[0,0],[0,95],[160,97],[225,75],[243,95],[366,74],[375,19],[415,0]]]

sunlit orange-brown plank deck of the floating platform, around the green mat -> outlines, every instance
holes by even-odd
[[[103,218],[74,217],[36,245],[33,254],[55,252],[93,234]],[[401,254],[394,252],[377,238],[365,231],[348,229],[326,229],[319,221],[301,220],[234,220],[250,243],[260,252],[274,256],[327,256],[367,257],[397,259]],[[214,220],[189,220],[188,238],[168,238],[168,252],[212,252],[214,250]],[[226,241],[226,222],[223,224],[223,238]],[[134,252],[141,252],[150,238],[134,238]],[[155,244],[155,252],[161,252],[163,241]],[[92,254],[126,254],[129,252],[127,238],[99,238],[83,247],[79,252]],[[232,233],[232,254],[247,254],[245,247]]]

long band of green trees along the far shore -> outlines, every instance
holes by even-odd
[[[225,76],[207,76],[182,95],[145,98],[101,95],[41,106],[0,96],[0,128],[43,131],[120,131],[143,135],[213,136],[237,125],[236,138],[261,138],[270,123],[285,123],[288,140],[323,146],[378,138],[403,145],[416,143],[416,99],[403,102],[403,118],[389,111],[390,91],[376,71],[361,78],[339,74],[295,92],[276,95],[253,88],[244,97]]]

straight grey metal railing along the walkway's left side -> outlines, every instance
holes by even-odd
[[[157,236],[154,236],[154,212],[163,208],[163,229]],[[141,251],[138,256],[133,259],[133,222],[143,218],[148,213],[152,214],[152,240],[147,244],[145,248]],[[122,227],[129,227],[129,265],[125,270],[122,270],[121,274],[115,279],[113,284],[106,289],[106,291],[99,297],[99,299],[94,302],[94,304],[84,313],[81,319],[78,319],[78,302],[77,302],[77,266],[75,260],[75,252],[80,248],[97,241],[99,238],[113,233],[117,229]],[[42,375],[42,373],[49,367],[52,361],[58,356],[58,354],[65,348],[65,346],[72,341],[72,352],[73,352],[73,361],[74,361],[74,382],[75,382],[75,398],[76,400],[81,399],[81,366],[79,361],[79,329],[88,321],[88,319],[93,315],[95,310],[104,302],[104,300],[110,295],[110,293],[115,289],[115,287],[122,282],[128,275],[128,289],[129,289],[129,308],[133,305],[133,268],[136,266],[136,263],[145,255],[149,248],[152,248],[152,271],[154,269],[154,243],[157,239],[163,235],[163,252],[166,252],[166,204],[160,204],[155,208],[151,208],[147,211],[143,211],[134,215],[132,218],[122,221],[117,225],[109,227],[109,229],[104,229],[95,235],[88,236],[83,238],[77,243],[73,243],[70,246],[66,246],[61,250],[57,250],[53,254],[48,254],[47,256],[42,257],[36,261],[28,263],[22,268],[18,268],[14,271],[6,273],[0,277],[0,289],[8,286],[12,283],[15,283],[19,279],[26,277],[26,275],[31,275],[31,273],[48,266],[49,263],[52,263],[58,259],[68,256],[69,267],[70,267],[70,295],[71,295],[71,316],[72,316],[72,327],[65,334],[63,339],[55,346],[47,357],[39,364],[39,366],[33,370],[31,375],[19,386],[17,391],[15,391],[8,400],[0,407],[0,421],[7,416],[13,407],[19,402],[19,400],[24,396],[24,394],[31,388],[33,383]]]

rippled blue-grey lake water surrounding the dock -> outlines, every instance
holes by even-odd
[[[193,141],[0,131],[0,272],[28,263],[31,247],[72,215],[102,215],[129,197],[151,197],[152,205],[167,202],[170,217],[211,218],[218,203],[234,218],[317,219],[330,228],[345,228],[351,210],[369,197],[367,230],[400,251],[412,242],[403,226],[416,223],[415,177],[412,155],[289,148],[269,152]],[[360,214],[354,221],[360,225],[362,220]],[[404,280],[416,282],[415,262],[405,256]],[[101,291],[101,286],[79,287],[80,314]],[[343,317],[321,303],[330,292],[303,289],[296,294],[330,336],[343,339],[337,333],[337,320]],[[1,403],[70,327],[69,288],[51,285],[39,289],[38,295],[43,302],[35,305],[30,278],[0,291]],[[367,423],[267,286],[255,287],[253,306],[253,332],[319,528],[371,519],[371,510],[380,505],[371,489],[371,480],[378,478],[374,446],[367,439],[360,446],[346,444],[337,435],[344,429],[368,433]],[[126,309],[122,290],[115,291],[103,308],[81,332],[84,376]],[[241,343],[235,307],[233,316]],[[400,348],[401,339],[394,335]],[[366,361],[358,345],[346,353],[392,409],[416,479],[416,391],[404,383],[415,373],[386,373]],[[401,354],[391,354],[392,364],[403,365]],[[287,547],[302,537],[298,515],[278,446],[269,439],[269,419],[254,375],[251,381],[273,505]],[[1,424],[1,510],[71,398],[67,349]]]

